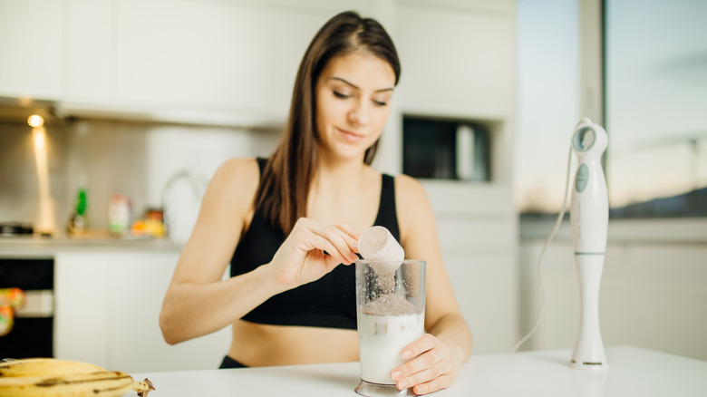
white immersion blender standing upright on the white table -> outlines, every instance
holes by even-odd
[[[608,369],[599,329],[599,286],[601,284],[609,204],[602,154],[606,150],[606,131],[589,119],[577,124],[572,150],[578,165],[572,189],[570,223],[579,281],[581,312],[579,332],[570,367],[586,371]]]

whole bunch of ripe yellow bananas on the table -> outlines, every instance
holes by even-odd
[[[92,363],[54,358],[27,358],[0,363],[0,397],[119,397],[134,390],[140,397],[155,390],[147,378],[106,371]]]

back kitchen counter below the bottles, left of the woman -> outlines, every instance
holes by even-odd
[[[53,257],[59,252],[180,252],[183,244],[150,237],[1,237],[0,257]]]

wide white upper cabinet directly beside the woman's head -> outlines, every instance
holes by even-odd
[[[331,7],[121,1],[112,102],[284,121],[302,55]]]

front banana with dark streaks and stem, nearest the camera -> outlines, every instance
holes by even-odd
[[[130,392],[131,375],[120,371],[73,373],[63,376],[0,378],[0,396],[13,397],[119,397]]]

